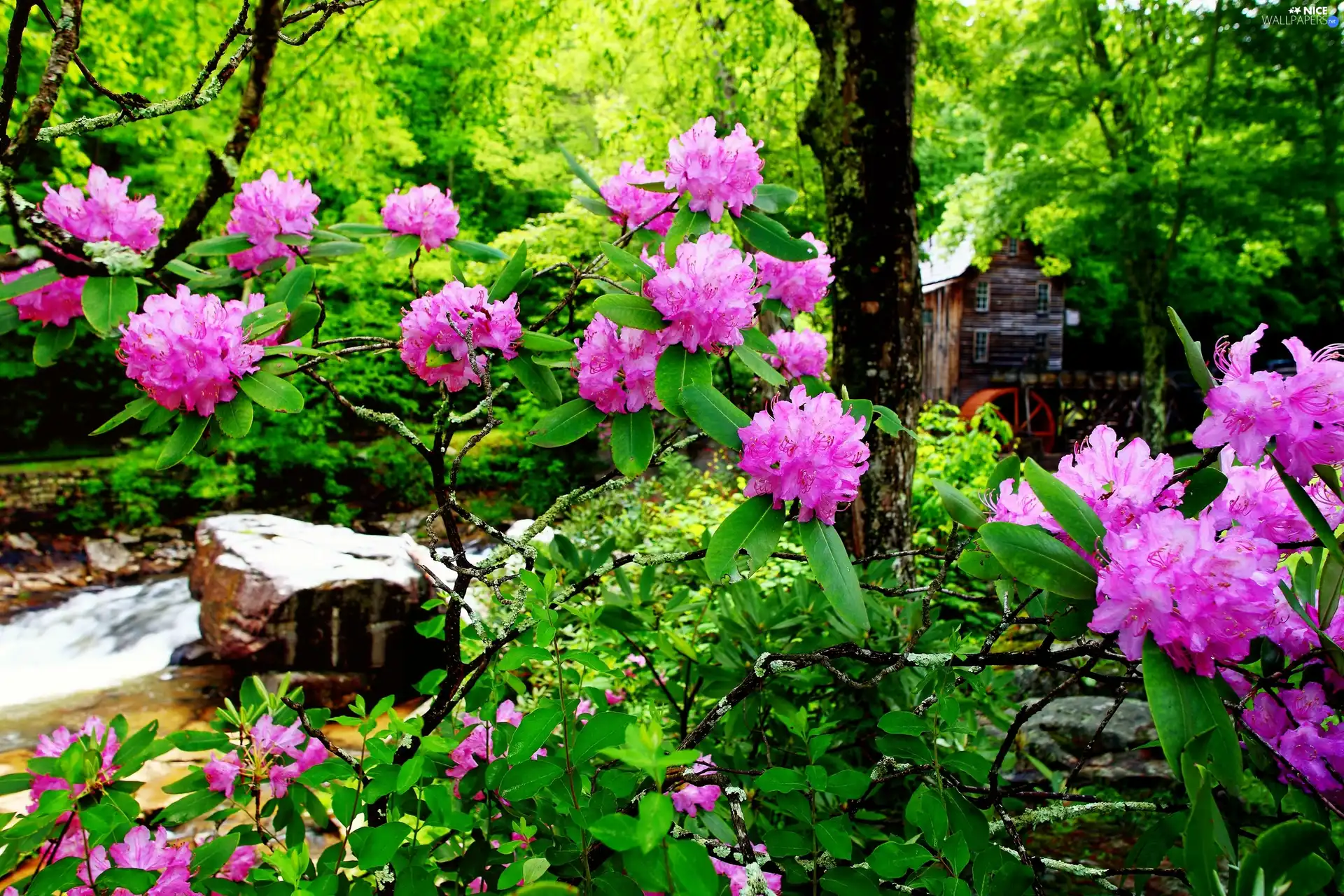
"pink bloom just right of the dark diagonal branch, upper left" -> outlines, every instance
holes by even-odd
[[[224,230],[246,234],[253,249],[228,257],[228,263],[242,271],[251,271],[271,258],[290,258],[294,247],[277,236],[312,236],[317,218],[313,215],[321,200],[308,181],[286,175],[281,180],[274,171],[266,171],[259,180],[242,185],[234,196],[234,211]],[[293,261],[289,262],[293,265]]]

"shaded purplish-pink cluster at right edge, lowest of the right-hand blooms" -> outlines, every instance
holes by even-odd
[[[1344,724],[1316,682],[1258,693],[1242,721],[1281,759],[1282,779],[1302,782],[1339,803],[1344,797]]]

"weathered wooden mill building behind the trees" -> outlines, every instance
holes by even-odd
[[[1035,244],[1001,240],[984,271],[972,263],[969,240],[952,250],[937,243],[923,249],[925,399],[962,404],[991,387],[1058,379],[1064,283],[1040,273]]]

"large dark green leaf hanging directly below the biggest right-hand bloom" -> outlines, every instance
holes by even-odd
[[[1144,641],[1144,688],[1163,755],[1180,780],[1185,748],[1204,732],[1210,766],[1228,793],[1236,794],[1242,779],[1242,750],[1212,678],[1177,669],[1152,635]],[[1195,756],[1203,762],[1203,756]]]

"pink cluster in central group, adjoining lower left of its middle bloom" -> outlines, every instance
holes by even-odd
[[[652,406],[663,410],[653,391],[653,373],[663,356],[659,334],[617,326],[601,314],[583,330],[579,347],[579,398],[603,414],[633,414]]]

